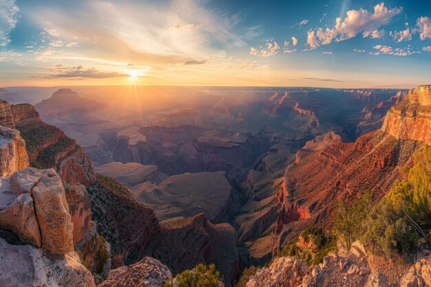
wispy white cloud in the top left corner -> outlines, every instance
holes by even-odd
[[[15,0],[0,1],[0,47],[6,47],[10,43],[9,33],[17,25],[19,8]]]

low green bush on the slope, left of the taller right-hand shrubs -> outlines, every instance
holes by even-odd
[[[286,244],[277,257],[295,256],[308,266],[323,262],[330,251],[337,247],[334,235],[322,228],[308,226],[299,235],[299,240]]]

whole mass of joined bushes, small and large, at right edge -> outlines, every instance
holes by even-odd
[[[361,240],[372,253],[414,259],[419,238],[430,240],[431,147],[414,154],[412,166],[401,169],[401,178],[372,208],[368,192],[352,206],[339,204],[333,231],[341,246],[349,250]]]

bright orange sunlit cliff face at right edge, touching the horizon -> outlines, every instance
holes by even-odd
[[[388,111],[381,129],[399,140],[431,145],[431,85],[410,89],[406,100]]]

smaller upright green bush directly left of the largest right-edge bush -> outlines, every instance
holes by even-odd
[[[367,191],[355,200],[352,206],[340,202],[334,212],[333,231],[341,246],[350,250],[350,246],[359,240],[366,229],[365,219],[370,211],[371,197]]]

